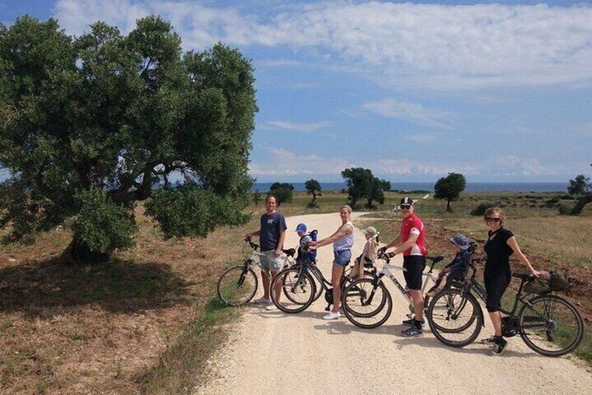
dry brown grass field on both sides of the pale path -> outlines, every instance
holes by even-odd
[[[399,217],[388,208],[401,196],[390,192],[369,216],[383,240],[398,231]],[[501,204],[507,227],[535,265],[570,268],[576,279],[572,299],[590,329],[591,208],[580,217],[562,217],[545,203],[554,195],[463,196],[452,203],[452,214],[444,212],[444,201],[419,201],[430,252],[451,254],[447,238],[458,232],[482,241],[486,227],[470,211],[485,201]],[[314,210],[306,208],[310,199],[299,193],[280,211],[337,213],[346,195],[324,192]],[[139,207],[136,247],[92,266],[57,261],[69,243],[64,229],[40,236],[34,245],[1,245],[0,393],[187,392],[232,330],[239,310],[220,306],[216,280],[243,258],[241,240],[258,228],[263,210],[262,203],[250,206],[253,218],[245,227],[218,229],[206,239],[164,241]],[[582,345],[580,357],[591,361],[591,350],[590,343]]]

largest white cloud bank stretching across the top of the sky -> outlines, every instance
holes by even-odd
[[[190,1],[58,0],[55,16],[69,33],[80,34],[96,20],[129,31],[136,18],[157,13],[172,22],[185,48],[201,50],[217,41],[282,46],[307,55],[308,62],[348,69],[389,87],[450,91],[592,80],[589,4],[255,6],[243,11]]]

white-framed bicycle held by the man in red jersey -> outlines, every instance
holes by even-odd
[[[393,312],[393,299],[390,296],[390,292],[386,289],[382,278],[387,275],[388,278],[395,284],[397,289],[401,292],[405,299],[409,302],[410,311],[413,312],[413,301],[409,292],[405,289],[399,280],[395,278],[395,275],[390,272],[390,269],[406,271],[402,266],[395,266],[390,264],[390,258],[394,255],[392,252],[382,253],[379,255],[379,259],[383,259],[384,266],[376,278],[364,278],[352,282],[344,291],[344,313],[347,319],[363,329],[373,329],[381,326],[386,322],[390,313]],[[421,287],[422,294],[425,295],[425,289],[428,288],[430,282],[435,285],[437,277],[432,273],[434,265],[437,262],[442,261],[444,257],[442,255],[427,256],[426,259],[432,261],[430,269],[422,273],[424,280],[423,286]],[[424,296],[424,303],[428,303],[429,297]],[[427,304],[425,305],[427,306]],[[386,307],[386,310],[384,310]],[[381,315],[381,313],[384,314]],[[410,313],[407,317],[413,317]]]

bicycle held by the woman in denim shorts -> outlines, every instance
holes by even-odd
[[[349,285],[353,280],[346,275],[351,271],[353,266],[349,267],[341,275],[341,291]],[[364,263],[364,275],[371,278],[376,277],[376,268],[374,264]],[[333,301],[333,288],[331,282],[328,281],[316,263],[310,260],[305,260],[300,264],[296,264],[290,268],[286,268],[274,279],[272,282],[272,289],[276,281],[281,281],[282,293],[286,299],[276,299],[276,295],[272,292],[272,301],[276,307],[284,313],[293,314],[300,313],[311,304],[320,298],[320,294],[325,291],[325,301],[327,302],[326,311],[329,311]],[[318,284],[318,285],[317,285]]]

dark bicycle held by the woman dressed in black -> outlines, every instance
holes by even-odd
[[[477,294],[484,303],[487,301],[485,289],[475,279],[476,261],[479,259],[472,259],[469,264],[472,269],[469,280],[453,282],[453,287],[434,296],[428,308],[432,333],[451,347],[464,347],[474,342],[485,325],[483,310],[474,296]],[[512,310],[501,309],[506,315],[502,317],[503,336],[519,334],[531,350],[548,357],[560,357],[575,350],[584,336],[584,319],[573,303],[551,291],[526,300],[523,287],[533,281],[535,275],[513,273],[512,277],[519,278],[521,283]]]

